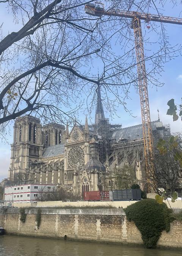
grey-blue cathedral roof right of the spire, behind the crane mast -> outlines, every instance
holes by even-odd
[[[156,127],[158,127],[158,123],[161,124],[161,122],[159,121],[151,122],[152,131],[157,129]],[[119,141],[121,139],[135,140],[135,139],[142,139],[142,138],[143,138],[142,124],[122,128],[122,129],[113,131],[111,133],[111,140],[115,140],[115,141]]]

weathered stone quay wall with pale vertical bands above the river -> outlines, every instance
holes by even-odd
[[[37,208],[26,209],[25,223],[19,209],[8,209],[0,215],[0,226],[7,234],[34,237],[67,238],[107,243],[143,244],[140,231],[126,219],[122,209],[42,209],[41,224],[36,225]],[[169,233],[162,232],[158,246],[182,248],[182,223],[174,221]]]

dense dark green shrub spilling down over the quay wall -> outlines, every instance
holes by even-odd
[[[140,230],[146,248],[155,247],[162,231],[169,232],[174,220],[173,211],[165,203],[159,204],[151,198],[133,203],[124,210],[128,221],[133,221]]]

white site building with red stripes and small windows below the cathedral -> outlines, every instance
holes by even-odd
[[[5,187],[5,201],[11,203],[36,202],[40,193],[52,191],[53,184],[23,184]]]

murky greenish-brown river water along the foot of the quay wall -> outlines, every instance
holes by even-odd
[[[127,245],[0,236],[0,256],[181,256],[182,251]]]

